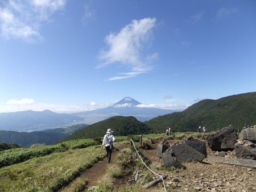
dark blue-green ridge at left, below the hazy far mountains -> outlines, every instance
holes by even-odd
[[[68,128],[34,132],[0,131],[0,143],[18,144],[20,147],[29,147],[36,143],[51,145],[86,126],[86,124],[78,124]]]

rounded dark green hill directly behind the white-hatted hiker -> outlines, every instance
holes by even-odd
[[[113,116],[112,118],[102,120],[101,122],[82,128],[72,135],[65,137],[61,141],[93,138],[98,136],[103,137],[108,128],[111,128],[114,131],[114,135],[119,136],[152,132],[146,124],[139,122],[133,116]]]

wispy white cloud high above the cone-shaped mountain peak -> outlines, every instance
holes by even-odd
[[[118,76],[111,77],[108,81],[135,77],[138,74],[152,70],[150,64],[158,55],[157,53],[145,55],[143,54],[143,48],[151,40],[150,37],[155,23],[155,18],[133,20],[117,34],[110,33],[105,37],[108,49],[100,53],[100,59],[103,62],[97,68],[109,64],[118,64],[126,66],[130,70],[129,72],[119,73]]]

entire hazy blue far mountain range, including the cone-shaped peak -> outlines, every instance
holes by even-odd
[[[74,124],[93,124],[118,115],[134,116],[143,122],[172,112],[175,112],[175,110],[143,107],[142,103],[135,99],[125,97],[113,106],[72,114],[59,114],[49,110],[0,113],[0,130],[43,131],[57,127],[68,127]]]

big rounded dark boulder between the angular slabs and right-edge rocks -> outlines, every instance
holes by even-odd
[[[213,151],[232,151],[238,139],[237,133],[232,126],[224,127],[220,131],[209,135],[207,142]]]

